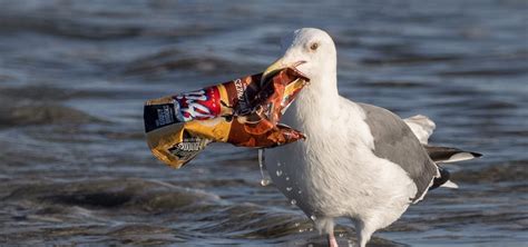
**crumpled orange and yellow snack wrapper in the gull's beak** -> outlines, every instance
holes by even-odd
[[[180,168],[213,141],[271,148],[304,138],[278,121],[310,80],[295,68],[261,79],[258,73],[148,100],[144,121],[154,156]]]

